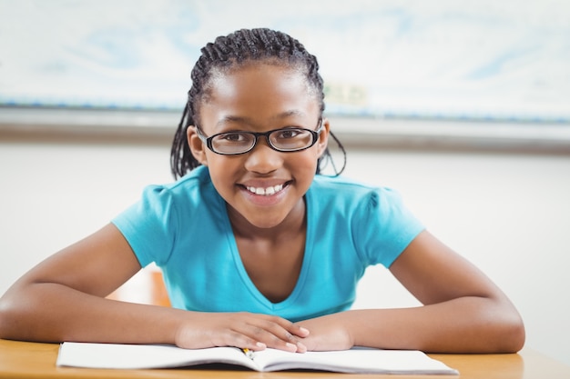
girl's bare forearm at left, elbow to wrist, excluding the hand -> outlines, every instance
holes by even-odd
[[[186,313],[85,294],[62,284],[26,284],[5,294],[0,337],[61,342],[174,344]]]

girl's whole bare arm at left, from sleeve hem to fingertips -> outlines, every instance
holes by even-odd
[[[0,338],[304,350],[295,335],[307,332],[279,317],[203,314],[105,298],[138,270],[129,244],[108,224],[8,289],[0,298]]]

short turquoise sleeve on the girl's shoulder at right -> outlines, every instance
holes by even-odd
[[[424,229],[402,203],[400,194],[390,188],[371,191],[361,202],[358,212],[361,215],[354,218],[352,234],[359,254],[367,264],[390,267]]]

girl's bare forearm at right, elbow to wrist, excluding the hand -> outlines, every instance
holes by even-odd
[[[461,297],[414,308],[339,314],[354,345],[432,353],[511,353],[524,344],[524,326],[511,304]]]

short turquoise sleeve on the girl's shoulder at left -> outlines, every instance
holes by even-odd
[[[112,220],[143,267],[163,264],[172,253],[178,224],[173,202],[167,188],[150,185],[136,204]]]

